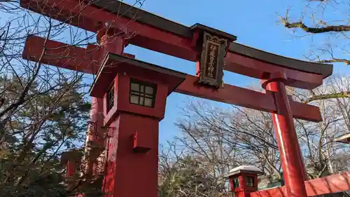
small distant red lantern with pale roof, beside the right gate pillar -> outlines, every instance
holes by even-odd
[[[230,180],[230,187],[236,197],[247,197],[249,193],[258,191],[258,175],[261,173],[254,165],[241,165],[230,170],[226,177]]]

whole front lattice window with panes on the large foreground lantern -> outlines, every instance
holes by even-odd
[[[130,80],[130,103],[145,107],[154,107],[156,85]]]

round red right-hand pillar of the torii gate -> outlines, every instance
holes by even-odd
[[[304,186],[305,170],[304,165],[302,165],[300,147],[284,81],[286,81],[284,74],[276,74],[270,80],[265,81],[262,87],[274,92],[277,113],[272,113],[272,121],[279,144],[288,196],[306,197],[307,193]]]

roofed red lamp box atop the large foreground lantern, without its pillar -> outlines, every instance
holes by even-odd
[[[97,73],[90,95],[104,98],[104,124],[118,111],[164,118],[166,97],[186,74],[109,53]]]

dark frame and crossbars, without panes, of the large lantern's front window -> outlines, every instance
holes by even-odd
[[[136,84],[139,85],[139,91],[132,90],[132,83],[136,83]],[[141,86],[144,86],[143,92],[141,91]],[[153,88],[153,94],[146,93],[146,87]],[[155,99],[156,99],[156,96],[157,96],[157,84],[156,83],[150,83],[150,82],[147,82],[147,81],[140,81],[140,80],[137,80],[137,79],[130,79],[130,86],[129,86],[129,88],[130,88],[130,90],[129,90],[129,103],[130,104],[136,104],[136,105],[139,105],[139,106],[142,106],[142,107],[151,107],[151,108],[155,107]],[[131,96],[132,95],[135,95],[135,96],[139,97],[139,103],[134,103],[134,102],[131,101]],[[141,104],[141,97],[144,98],[144,103],[143,104]],[[152,100],[151,106],[148,106],[148,105],[145,104],[145,98],[148,98],[148,99]]]

